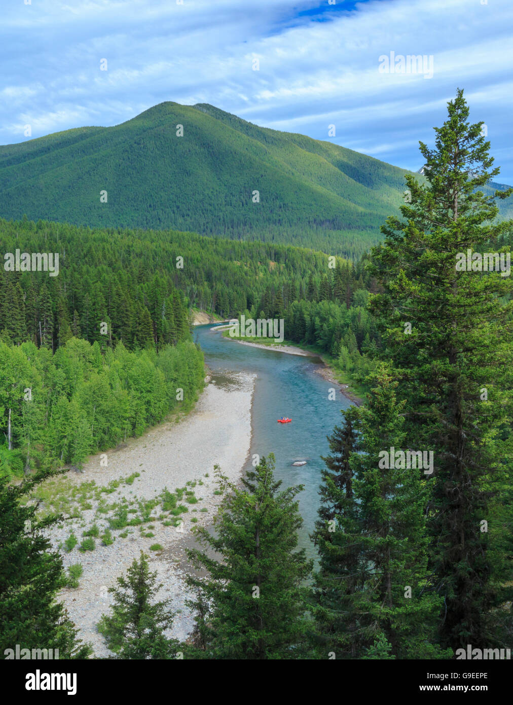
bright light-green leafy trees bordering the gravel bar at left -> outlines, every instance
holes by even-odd
[[[204,378],[191,341],[101,354],[70,338],[52,355],[34,343],[0,341],[0,474],[22,475],[66,463],[140,436],[173,410],[189,410]]]

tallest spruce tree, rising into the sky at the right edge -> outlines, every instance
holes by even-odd
[[[403,221],[383,226],[385,244],[373,250],[370,267],[383,286],[371,309],[408,400],[408,437],[435,453],[431,570],[445,600],[441,643],[453,649],[505,645],[497,615],[513,597],[512,568],[497,548],[502,527],[493,522],[512,467],[500,438],[511,409],[511,278],[478,271],[476,254],[496,251],[511,230],[512,221],[495,222],[494,200],[511,190],[483,195],[499,170],[491,168],[483,123],[468,116],[458,90],[435,128],[435,148],[421,143],[426,183],[407,176],[411,203]]]

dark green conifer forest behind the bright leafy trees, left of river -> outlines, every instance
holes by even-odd
[[[58,276],[0,271],[0,335],[51,350],[72,336],[159,350],[188,338],[189,307],[230,317],[285,284],[304,298],[328,269],[326,255],[297,247],[26,219],[0,220],[0,243],[59,254]]]

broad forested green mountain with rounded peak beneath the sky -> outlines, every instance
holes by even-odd
[[[173,228],[357,258],[397,214],[404,173],[208,104],[166,102],[115,127],[0,147],[0,216]]]

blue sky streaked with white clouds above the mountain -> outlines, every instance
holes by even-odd
[[[0,16],[1,145],[210,103],[416,171],[461,87],[513,184],[512,0],[0,0]]]

